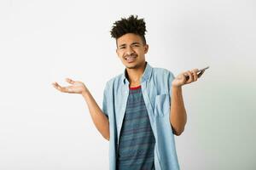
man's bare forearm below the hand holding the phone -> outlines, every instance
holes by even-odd
[[[187,122],[187,114],[183,104],[183,94],[181,87],[172,86],[172,103],[170,112],[170,122],[174,133],[180,135],[183,133],[185,124]]]

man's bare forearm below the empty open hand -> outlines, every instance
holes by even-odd
[[[85,99],[85,102],[90,111],[90,116],[94,122],[97,130],[102,133],[102,136],[105,139],[109,140],[109,122],[108,117],[102,112],[99,105],[97,105],[96,100],[92,97],[89,90],[82,93],[82,96]]]

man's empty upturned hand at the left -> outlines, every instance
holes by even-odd
[[[79,82],[79,81],[73,81],[70,78],[66,78],[66,81],[70,84],[71,86],[67,87],[61,87],[57,82],[53,82],[52,85],[59,91],[63,93],[69,93],[69,94],[83,94],[88,91],[88,89],[85,87],[84,82]]]

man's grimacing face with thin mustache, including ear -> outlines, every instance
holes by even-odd
[[[117,39],[116,53],[128,69],[136,69],[145,63],[145,54],[148,44],[143,44],[143,39],[133,33],[127,33]]]

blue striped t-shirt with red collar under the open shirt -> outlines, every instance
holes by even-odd
[[[154,134],[141,86],[130,88],[119,137],[118,170],[154,170]]]

